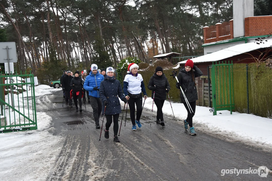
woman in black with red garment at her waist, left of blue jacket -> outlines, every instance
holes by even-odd
[[[79,101],[79,112],[82,112],[82,90],[83,90],[83,81],[79,76],[79,71],[75,72],[75,77],[71,80],[70,86],[73,90],[73,100],[76,106],[76,111],[78,111],[78,102]]]

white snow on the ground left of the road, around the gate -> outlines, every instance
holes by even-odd
[[[35,95],[52,94],[59,90],[39,85],[35,87]],[[16,104],[18,100],[23,102],[21,94],[14,98]],[[63,138],[49,133],[52,118],[45,112],[37,112],[37,118],[38,130],[0,134],[1,180],[45,180],[54,168]]]

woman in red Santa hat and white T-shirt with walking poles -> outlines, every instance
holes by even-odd
[[[124,79],[124,94],[126,100],[128,100],[129,110],[130,110],[130,119],[132,122],[133,131],[136,130],[136,124],[138,128],[141,128],[140,118],[142,115],[142,104],[144,94],[144,99],[147,98],[146,88],[144,87],[144,81],[141,74],[138,74],[139,66],[136,63],[130,63],[128,65],[128,74]],[[136,119],[135,119],[135,104],[136,104]]]

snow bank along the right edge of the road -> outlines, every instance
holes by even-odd
[[[149,97],[144,103],[146,109],[152,110],[153,100]],[[171,103],[175,118],[183,127],[183,120],[187,118],[187,110],[182,103]],[[173,117],[169,101],[163,105],[163,115]],[[262,118],[251,114],[237,113],[224,110],[217,111],[217,115],[209,112],[209,107],[196,106],[193,126],[196,133],[208,133],[227,141],[243,142],[246,145],[259,147],[265,151],[272,151],[272,119]],[[156,120],[157,107],[153,106]],[[221,114],[220,114],[221,113]],[[167,124],[167,123],[166,123]]]

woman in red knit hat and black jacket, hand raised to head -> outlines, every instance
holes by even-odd
[[[185,67],[180,69],[180,72],[178,73],[178,81],[176,84],[176,87],[180,89],[182,88],[192,110],[193,113],[190,112],[189,107],[186,104],[185,98],[180,90],[180,99],[181,103],[184,104],[186,110],[187,110],[187,118],[184,120],[184,129],[187,131],[188,130],[188,124],[190,126],[190,134],[191,135],[196,135],[196,132],[194,131],[193,127],[193,116],[194,113],[196,112],[196,100],[198,99],[197,97],[197,90],[196,90],[196,82],[195,78],[200,77],[203,73],[197,66],[194,65],[194,62],[190,59],[187,60],[185,63]]]

